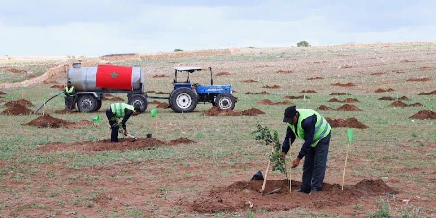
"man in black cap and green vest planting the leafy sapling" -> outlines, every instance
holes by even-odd
[[[294,168],[304,157],[302,185],[296,192],[312,194],[321,190],[331,138],[330,124],[318,112],[295,106],[285,109],[283,122],[287,124],[281,153],[283,159],[296,137],[304,140],[298,156],[292,161]]]

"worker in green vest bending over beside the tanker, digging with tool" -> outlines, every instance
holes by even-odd
[[[108,117],[112,133],[110,135],[110,142],[118,142],[118,119],[123,118],[121,127],[124,130],[124,135],[127,136],[129,132],[126,129],[125,123],[131,116],[136,116],[141,113],[140,107],[134,107],[126,103],[113,103],[106,109],[106,116]]]

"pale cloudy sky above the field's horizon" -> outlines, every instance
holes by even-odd
[[[436,41],[435,0],[0,0],[0,55]]]

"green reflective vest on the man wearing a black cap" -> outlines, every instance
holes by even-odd
[[[291,128],[292,132],[294,132],[294,134],[300,138],[304,140],[304,130],[301,127],[301,122],[312,116],[313,114],[316,115],[316,124],[315,124],[315,135],[313,136],[313,144],[312,147],[315,147],[319,140],[321,140],[322,138],[328,136],[328,134],[330,133],[331,130],[331,126],[330,124],[328,124],[327,120],[324,119],[324,117],[322,117],[321,115],[319,115],[318,112],[311,110],[311,109],[297,109],[298,113],[300,114],[300,116],[298,117],[298,122],[297,122],[297,128],[298,128],[298,135],[295,133],[295,128],[294,125],[287,123],[289,128]]]

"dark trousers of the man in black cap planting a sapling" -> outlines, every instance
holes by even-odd
[[[328,146],[330,145],[331,132],[328,136],[321,139],[315,147],[311,147],[303,164],[303,185],[304,192],[311,190],[321,190],[326,173]]]

